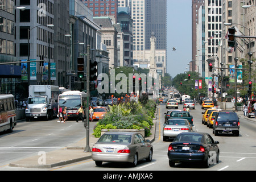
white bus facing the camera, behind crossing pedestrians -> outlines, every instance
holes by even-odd
[[[80,91],[67,91],[59,95],[58,109],[67,107],[68,117],[77,117],[79,108],[86,106],[86,93]]]

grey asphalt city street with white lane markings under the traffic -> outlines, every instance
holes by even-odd
[[[179,105],[181,109],[182,105]],[[194,130],[207,132],[212,135],[214,140],[220,142],[220,162],[212,164],[209,168],[202,168],[200,164],[176,164],[170,167],[168,164],[167,150],[171,141],[163,142],[162,127],[164,122],[164,114],[167,111],[164,104],[159,105],[158,118],[156,122],[156,136],[152,143],[154,154],[152,162],[142,161],[137,167],[130,167],[126,163],[103,163],[101,167],[96,167],[92,159],[82,162],[69,164],[67,166],[55,167],[51,169],[39,170],[55,170],[55,171],[254,171],[256,169],[256,122],[249,121],[246,118],[240,118],[240,136],[234,137],[231,134],[220,135],[215,137],[212,129],[201,123],[200,105],[196,105],[195,110],[191,110],[193,115]],[[256,120],[255,120],[256,121]],[[92,132],[93,122],[90,125]],[[81,127],[82,126],[82,127]],[[85,138],[85,129],[81,122],[69,121],[67,123],[57,123],[57,120],[44,122],[20,122],[11,134],[1,134],[0,136],[0,170],[18,170],[19,168],[9,167],[13,160],[27,158],[35,155],[39,151],[52,151],[59,148],[67,147],[71,143],[75,143]],[[26,169],[22,169],[26,170]],[[31,169],[29,169],[31,170]],[[32,169],[33,170],[33,169]],[[38,169],[35,169],[38,170]]]

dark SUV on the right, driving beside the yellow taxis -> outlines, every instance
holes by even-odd
[[[240,122],[237,113],[234,111],[220,111],[216,115],[213,122],[213,134],[218,133],[233,133],[239,136]]]

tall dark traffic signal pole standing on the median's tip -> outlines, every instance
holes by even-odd
[[[90,115],[89,115],[89,106],[90,106],[90,46],[87,46],[87,64],[86,64],[86,124],[84,122],[86,128],[86,147],[84,152],[92,152],[90,150],[89,145],[89,123],[90,123]]]

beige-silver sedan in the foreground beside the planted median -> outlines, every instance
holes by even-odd
[[[153,147],[137,132],[107,132],[93,145],[92,159],[97,166],[102,162],[129,162],[137,166],[139,160],[151,162]]]

